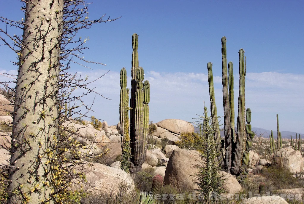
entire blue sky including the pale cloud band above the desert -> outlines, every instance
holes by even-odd
[[[247,57],[246,107],[253,127],[304,133],[304,2],[293,1],[97,1],[88,6],[89,18],[103,14],[115,22],[80,33],[89,37],[85,59],[105,63],[92,70],[71,71],[95,79],[101,94],[92,113],[109,125],[119,120],[119,71],[130,75],[133,33],[139,35],[139,65],[150,81],[150,120],[176,118],[189,122],[209,108],[207,63],[213,64],[218,115],[223,116],[221,38],[227,38],[227,61],[234,64],[235,103],[238,93],[238,51]],[[3,1],[1,15],[19,20],[19,1]],[[0,25],[3,28],[3,25]],[[14,31],[12,31],[14,32]],[[16,56],[0,46],[1,72],[13,72]],[[1,78],[3,79],[3,78]],[[130,76],[129,78],[130,79]],[[130,87],[130,80],[128,82]],[[91,102],[94,95],[85,99]],[[235,106],[237,107],[237,105]],[[237,116],[237,109],[235,110]],[[89,114],[91,115],[91,114]],[[223,120],[222,120],[223,123]]]

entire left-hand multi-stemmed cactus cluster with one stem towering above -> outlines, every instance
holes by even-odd
[[[138,65],[138,35],[132,35],[132,68],[131,68],[131,98],[128,107],[128,89],[126,89],[126,70],[123,68],[120,73],[120,124],[122,135],[123,159],[130,158],[130,162],[122,167],[128,166],[130,173],[140,171],[141,165],[145,161],[147,152],[147,136],[149,132],[149,105],[150,84],[143,83],[143,68]],[[130,110],[130,121],[128,111]],[[130,124],[129,124],[130,123]],[[129,131],[130,126],[130,131]],[[129,136],[130,135],[130,136]],[[128,136],[128,137],[127,137]],[[129,140],[127,140],[129,139]],[[126,144],[126,141],[128,143]],[[124,157],[124,150],[130,150],[130,156]]]

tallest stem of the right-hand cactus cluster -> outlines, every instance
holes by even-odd
[[[222,38],[222,84],[223,84],[223,107],[224,107],[224,135],[225,135],[225,171],[230,173],[231,167],[231,122],[230,122],[230,106],[228,92],[228,76],[227,76],[227,53],[226,53],[226,37]]]

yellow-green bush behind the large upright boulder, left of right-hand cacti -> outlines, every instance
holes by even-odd
[[[176,142],[182,149],[194,149],[202,150],[203,149],[203,139],[195,132],[182,132],[180,136],[180,141]]]

